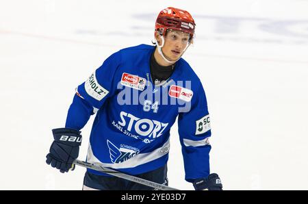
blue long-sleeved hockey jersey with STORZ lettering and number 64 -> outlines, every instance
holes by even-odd
[[[107,58],[76,88],[66,127],[80,130],[97,113],[87,161],[138,175],[166,164],[170,128],[178,116],[185,179],[207,177],[211,128],[201,81],[181,58],[170,78],[155,86],[153,51],[155,47],[141,44]]]

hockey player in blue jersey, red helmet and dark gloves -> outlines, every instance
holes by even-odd
[[[222,190],[209,172],[211,127],[200,79],[181,56],[192,44],[195,23],[185,10],[166,8],[155,23],[155,46],[122,49],[76,88],[65,128],[53,129],[47,164],[68,172],[77,159],[81,131],[97,114],[87,162],[168,185],[170,128],[178,116],[185,180],[196,190]],[[88,169],[84,190],[151,190]]]

